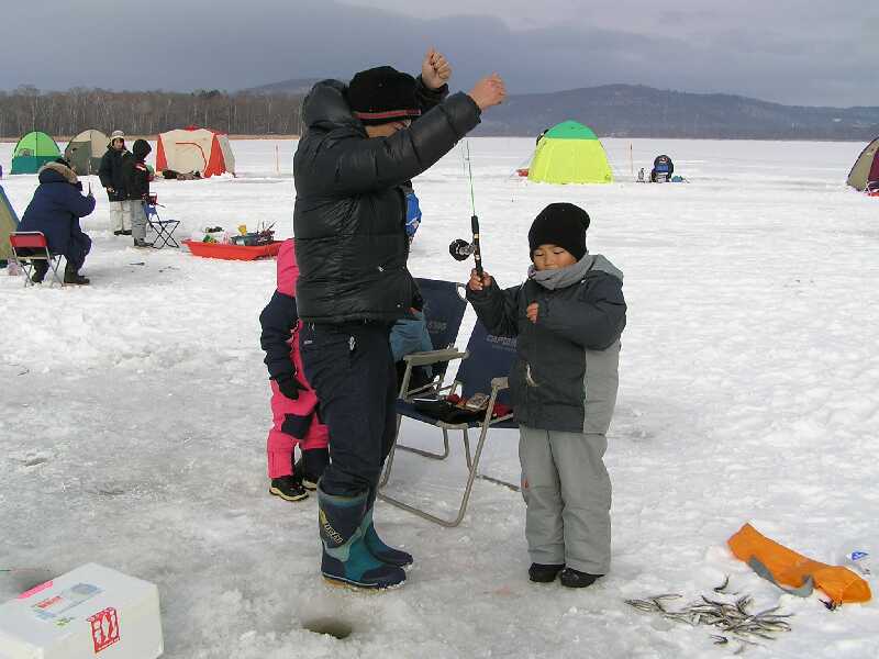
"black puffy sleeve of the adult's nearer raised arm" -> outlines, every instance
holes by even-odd
[[[399,186],[429,169],[479,123],[479,107],[455,93],[390,137],[364,139],[352,132],[326,141],[311,165],[322,192],[352,196]],[[316,190],[315,190],[316,191]]]

